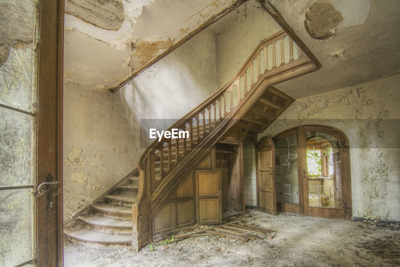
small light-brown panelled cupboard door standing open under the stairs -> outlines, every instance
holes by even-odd
[[[197,223],[222,223],[220,170],[196,170]]]

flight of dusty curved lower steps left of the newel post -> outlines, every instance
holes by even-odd
[[[64,229],[66,239],[90,247],[118,249],[132,244],[132,204],[139,177],[129,177],[108,192],[89,214],[75,218],[75,226]]]

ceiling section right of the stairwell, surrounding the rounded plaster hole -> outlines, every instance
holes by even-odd
[[[285,81],[278,89],[299,99],[400,72],[398,0],[270,0],[322,64],[316,72]],[[312,4],[328,3],[343,20],[326,40],[312,38],[304,25]],[[333,60],[328,54],[342,51]]]

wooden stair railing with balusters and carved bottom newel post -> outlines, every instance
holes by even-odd
[[[162,137],[160,142],[152,142],[138,162],[140,186],[132,206],[132,249],[137,251],[151,240],[153,208],[163,201],[158,199],[161,192],[174,186],[170,184],[168,174],[178,166],[183,168],[185,164],[182,161],[191,161],[195,156],[192,154],[194,148],[206,148],[204,140],[221,134],[222,131],[216,131],[218,125],[232,127],[234,122],[230,119],[247,108],[246,101],[250,98],[255,101],[255,93],[262,93],[259,89],[265,86],[266,80],[268,85],[272,85],[316,69],[317,66],[284,30],[277,32],[258,44],[234,78],[167,129],[186,130],[189,136],[174,139]],[[207,138],[209,135],[210,138]]]

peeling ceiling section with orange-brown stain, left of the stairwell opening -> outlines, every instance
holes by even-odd
[[[237,2],[67,0],[64,79],[112,89]]]

